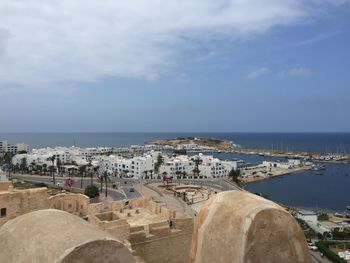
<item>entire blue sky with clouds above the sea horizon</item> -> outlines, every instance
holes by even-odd
[[[0,132],[350,132],[349,0],[0,0]]]

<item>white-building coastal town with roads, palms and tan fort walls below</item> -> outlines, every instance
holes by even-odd
[[[9,144],[2,141],[2,145],[4,149],[4,145]],[[183,240],[180,242],[186,245],[179,248],[184,253],[181,260],[188,258],[192,220],[196,222],[196,217],[211,197],[220,192],[242,191],[243,184],[255,180],[322,169],[320,164],[307,158],[263,161],[252,165],[242,160],[214,157],[213,153],[218,152],[220,150],[213,147],[197,144],[147,144],[128,148],[59,146],[29,151],[29,146],[21,143],[2,152],[1,195],[8,200],[15,198],[13,194],[17,193],[13,204],[21,207],[25,196],[30,193],[33,199],[28,202],[39,202],[41,209],[60,208],[85,217],[91,224],[112,233],[118,240],[127,239],[124,242],[131,244],[136,254],[146,259],[146,262],[160,262],[159,257],[167,257],[172,262],[171,258],[175,255],[164,255],[161,250],[157,250],[158,256],[153,258],[154,254],[148,251],[149,248],[143,246],[148,242],[159,242],[157,238],[178,238],[177,235],[182,233]],[[13,186],[7,183],[9,180],[12,180]],[[35,190],[36,186],[46,186],[49,190]],[[91,192],[92,187],[94,193]],[[14,188],[22,190],[13,192]],[[47,191],[50,197],[42,204],[39,199],[44,198]],[[95,201],[89,201],[89,197]],[[96,206],[94,202],[102,203]],[[160,206],[154,210],[156,203],[153,202],[162,203],[163,208]],[[32,206],[36,207],[35,204]],[[14,211],[19,208],[8,207],[4,202],[1,207],[2,223],[18,216]],[[315,245],[317,240],[332,240],[333,236],[347,235],[350,229],[343,215],[284,207],[298,220],[314,258],[322,255]],[[166,210],[168,208],[171,210]],[[158,212],[152,214],[154,211]],[[172,222],[170,228],[166,222]],[[151,225],[154,230],[141,234],[138,232],[141,231],[140,224],[144,229],[142,231],[151,229]],[[163,232],[153,225],[162,226]],[[150,239],[149,235],[159,236]],[[140,242],[144,244],[141,247]],[[334,251],[338,251],[337,248]],[[339,257],[348,260],[347,250],[339,250]]]

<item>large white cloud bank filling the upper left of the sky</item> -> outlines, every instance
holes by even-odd
[[[57,88],[111,76],[153,81],[178,63],[191,42],[247,38],[299,23],[319,4],[307,5],[304,0],[1,0],[0,89]]]

